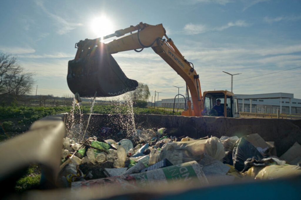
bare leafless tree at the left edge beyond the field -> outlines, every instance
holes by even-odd
[[[29,73],[17,62],[17,58],[0,53],[0,97],[19,98],[31,91],[34,73]]]

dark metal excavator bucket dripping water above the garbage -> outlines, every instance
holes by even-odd
[[[112,55],[100,46],[68,62],[67,83],[80,97],[113,97],[135,90],[138,82],[126,77]]]

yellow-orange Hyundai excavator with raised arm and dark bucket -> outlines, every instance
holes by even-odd
[[[123,36],[123,37],[122,37]],[[108,43],[104,39],[117,37]],[[239,117],[237,98],[230,91],[205,91],[201,93],[200,79],[194,65],[187,61],[171,38],[167,37],[162,24],[149,25],[140,22],[136,26],[93,40],[80,40],[74,60],[68,62],[67,83],[73,94],[80,97],[112,97],[135,90],[138,82],[128,79],[112,54],[135,50],[141,52],[151,47],[186,82],[188,109],[184,116],[217,116],[213,106],[221,100],[224,117]],[[138,50],[139,49],[139,50]]]

